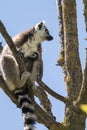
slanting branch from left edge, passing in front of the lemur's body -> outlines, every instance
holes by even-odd
[[[25,65],[24,65],[24,57],[21,53],[19,53],[16,50],[16,46],[14,44],[14,42],[12,41],[10,35],[8,34],[6,28],[4,27],[3,23],[0,21],[0,32],[3,35],[3,37],[6,40],[6,43],[8,44],[9,48],[11,49],[18,65],[19,65],[19,70],[20,70],[20,74],[22,74],[24,71],[26,71]],[[28,78],[26,85],[24,85],[24,87],[27,87],[29,89],[29,97],[33,100],[33,90],[32,90],[32,83],[30,78]]]

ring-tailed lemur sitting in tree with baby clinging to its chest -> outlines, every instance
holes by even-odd
[[[24,91],[23,85],[29,76],[32,82],[37,80],[38,74],[40,77],[42,76],[43,63],[39,50],[40,43],[52,39],[53,37],[43,21],[13,38],[17,50],[21,51],[25,58],[27,71],[21,74],[21,77],[18,63],[8,45],[1,53],[0,71],[9,90],[13,91],[18,99],[24,119],[24,130],[34,130],[33,123],[36,120],[36,115],[32,101],[27,91]]]

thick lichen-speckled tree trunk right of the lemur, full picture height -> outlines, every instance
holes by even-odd
[[[64,29],[64,65],[68,100],[65,106],[64,124],[68,130],[85,130],[85,115],[75,108],[82,87],[82,68],[79,58],[76,1],[62,1]]]

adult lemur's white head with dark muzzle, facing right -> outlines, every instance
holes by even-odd
[[[49,33],[49,30],[45,26],[45,22],[44,21],[42,21],[39,24],[37,24],[35,26],[35,30],[36,30],[36,33],[39,34],[41,39],[47,40],[47,41],[51,41],[53,39],[53,37]]]

